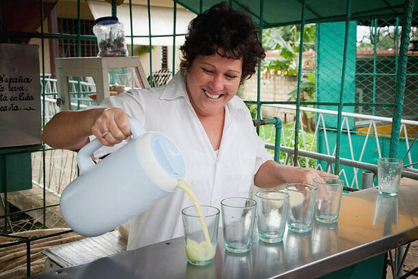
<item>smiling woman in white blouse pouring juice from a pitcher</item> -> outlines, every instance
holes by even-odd
[[[335,177],[274,162],[236,97],[265,57],[258,28],[247,14],[225,3],[214,5],[190,22],[181,50],[182,71],[167,86],[130,90],[89,110],[60,112],[45,126],[45,143],[77,150],[93,134],[106,145],[95,153],[100,157],[130,136],[128,118],[133,117],[145,130],[163,132],[177,143],[186,160],[186,181],[200,204],[218,208],[225,197],[247,197],[253,184],[274,188]],[[182,236],[180,210],[190,204],[177,189],[132,219],[128,249]]]

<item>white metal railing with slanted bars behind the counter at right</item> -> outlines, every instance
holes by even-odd
[[[284,104],[264,104],[262,106],[269,106],[269,107],[273,107],[275,108],[275,116],[281,119],[282,113],[281,110],[296,110],[296,106],[289,106],[289,105],[284,105]],[[336,152],[336,145],[334,145],[333,147],[330,146],[330,143],[328,142],[328,135],[327,135],[327,128],[325,125],[325,121],[323,119],[323,115],[324,114],[328,114],[328,115],[337,115],[338,112],[334,111],[334,110],[323,110],[323,109],[318,109],[318,108],[306,108],[306,107],[300,107],[300,110],[304,111],[304,112],[313,112],[317,114],[317,123],[315,126],[315,132],[314,135],[312,137],[312,142],[309,143],[310,148],[306,149],[306,132],[304,131],[304,125],[303,125],[303,117],[302,114],[299,114],[300,117],[300,123],[301,125],[300,127],[300,132],[302,133],[302,137],[299,138],[299,141],[302,141],[302,146],[304,147],[304,150],[306,151],[315,151],[312,150],[312,147],[314,146],[314,141],[316,139],[316,136],[319,132],[319,130],[323,130],[323,136],[324,136],[324,141],[325,141],[325,147],[326,147],[326,151],[327,151],[327,155],[332,155],[335,156],[335,152]],[[378,156],[379,158],[382,157],[382,152],[380,150],[380,144],[379,144],[379,138],[382,137],[381,134],[378,134],[378,129],[377,129],[377,125],[376,122],[378,122],[379,124],[381,123],[392,123],[392,119],[389,117],[376,117],[376,116],[372,116],[372,115],[367,115],[367,114],[356,114],[356,113],[351,113],[351,112],[342,112],[342,117],[343,117],[343,121],[342,121],[342,125],[341,125],[341,130],[345,129],[347,132],[347,137],[348,137],[348,143],[349,143],[349,151],[350,151],[350,157],[351,158],[347,158],[350,160],[354,160],[356,162],[362,162],[363,160],[363,156],[365,154],[365,149],[366,149],[366,145],[367,142],[369,141],[369,138],[374,137],[374,140],[372,139],[372,141],[376,142],[376,149],[378,151]],[[368,129],[367,129],[367,133],[365,134],[365,141],[362,144],[362,149],[358,149],[358,148],[354,148],[353,144],[352,144],[352,136],[350,133],[350,128],[349,128],[349,117],[353,118],[353,119],[361,119],[364,123],[368,124]],[[282,119],[283,120],[283,119]],[[406,150],[409,149],[410,147],[410,143],[409,143],[409,139],[408,139],[408,130],[406,129],[406,125],[412,125],[412,126],[418,126],[418,121],[413,121],[413,120],[408,120],[408,119],[402,119],[401,120],[401,132],[404,132],[405,135],[405,145],[406,145]],[[283,143],[284,146],[286,147],[290,147],[291,143],[293,141],[293,138],[295,137],[295,125],[293,125],[293,131],[291,133],[291,136],[288,138],[285,138],[285,133],[284,133],[284,129],[282,129],[282,138],[283,138]],[[267,138],[266,142],[267,143],[271,143],[271,138],[273,136],[273,130],[271,130],[271,134],[266,135],[265,134],[265,130],[262,127],[261,130],[262,136],[264,136],[264,138]],[[387,135],[386,135],[387,137]],[[330,152],[330,150],[332,150],[332,153]],[[306,160],[306,165],[308,165],[308,157],[305,157]],[[411,154],[408,154],[408,157],[405,161],[409,162],[409,164],[406,165],[410,165],[413,164],[413,159]],[[289,156],[288,154],[286,154],[286,158],[284,161],[285,164],[289,163]],[[321,165],[317,165],[317,169],[321,169]],[[358,183],[358,179],[357,179],[357,173],[358,173],[358,168],[354,168],[354,177],[352,179],[351,182],[349,182],[347,180],[347,175],[345,174],[344,169],[341,169],[339,175],[343,175],[345,178],[345,183],[346,185],[352,187],[352,188],[356,188],[356,189],[360,189],[359,188],[359,183]]]

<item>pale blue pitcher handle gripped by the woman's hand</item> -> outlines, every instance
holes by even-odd
[[[138,120],[130,118],[128,119],[130,123],[130,130],[132,133],[132,139],[137,138],[138,136],[141,136],[145,134],[147,131],[143,128],[143,125],[139,123]],[[90,141],[90,143],[87,143],[82,147],[82,149],[79,149],[77,154],[77,165],[79,167],[80,173],[84,173],[84,171],[88,171],[91,167],[93,167],[95,164],[90,159],[90,155],[93,154],[97,149],[102,147],[103,145],[99,142],[97,138],[95,138],[93,141]]]

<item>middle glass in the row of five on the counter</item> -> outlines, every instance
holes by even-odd
[[[288,193],[278,190],[256,193],[258,236],[261,241],[282,241],[286,228],[288,197]]]

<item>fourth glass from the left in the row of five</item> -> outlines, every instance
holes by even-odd
[[[287,225],[293,232],[309,232],[315,208],[317,186],[307,183],[288,183],[284,187],[289,195]]]

